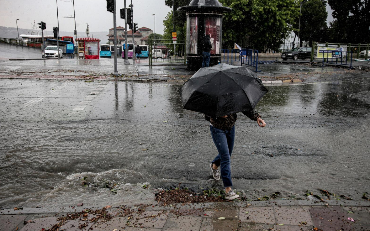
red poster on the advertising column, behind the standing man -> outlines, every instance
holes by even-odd
[[[211,39],[211,55],[220,54],[220,38],[221,38],[221,18],[207,17],[205,18],[205,34],[210,35]]]

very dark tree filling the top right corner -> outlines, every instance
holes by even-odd
[[[369,43],[369,0],[328,0],[334,20],[330,22],[330,41],[334,43]]]

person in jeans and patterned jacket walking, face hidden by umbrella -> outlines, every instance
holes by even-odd
[[[255,110],[245,111],[243,114],[248,116],[251,120],[257,121],[258,126],[266,126],[265,121],[261,119],[261,116]],[[232,181],[230,169],[230,158],[234,147],[235,137],[234,125],[237,117],[236,113],[217,118],[211,118],[207,115],[205,116],[205,119],[210,123],[211,136],[218,150],[218,155],[210,164],[212,176],[216,180],[220,179],[218,167],[221,166],[221,177],[223,186],[225,187],[225,198],[227,200],[234,200],[239,197],[239,195],[231,189]]]

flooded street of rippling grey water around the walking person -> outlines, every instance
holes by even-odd
[[[0,82],[1,208],[142,203],[154,198],[143,184],[215,186],[209,122],[182,109],[181,85]],[[265,128],[238,113],[235,190],[253,200],[369,192],[369,79],[267,88],[256,108]]]

